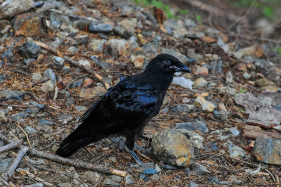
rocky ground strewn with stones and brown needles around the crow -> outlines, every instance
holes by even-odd
[[[266,44],[188,16],[166,19],[160,9],[130,1],[6,2],[0,1],[0,186],[280,184],[281,58]],[[129,165],[135,161],[122,137],[70,157],[117,174],[42,156],[55,152],[110,86],[159,53],[176,56],[192,74],[174,77],[161,112],[138,138],[137,155],[153,165]],[[8,142],[15,146],[6,148]]]

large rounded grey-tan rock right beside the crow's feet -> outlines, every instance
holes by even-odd
[[[153,154],[163,162],[184,167],[194,157],[188,138],[174,129],[164,129],[152,138]]]

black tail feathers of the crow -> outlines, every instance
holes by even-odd
[[[92,137],[77,137],[74,131],[60,144],[60,148],[55,151],[55,154],[60,157],[68,157],[79,150],[79,148],[84,148],[91,142]]]

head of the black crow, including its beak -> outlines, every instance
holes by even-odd
[[[153,58],[146,69],[155,69],[155,67],[162,70],[162,72],[172,74],[175,72],[191,72],[178,58],[165,53],[159,54]]]

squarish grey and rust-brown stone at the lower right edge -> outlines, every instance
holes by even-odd
[[[259,162],[281,165],[281,140],[272,138],[256,138],[251,155]]]

